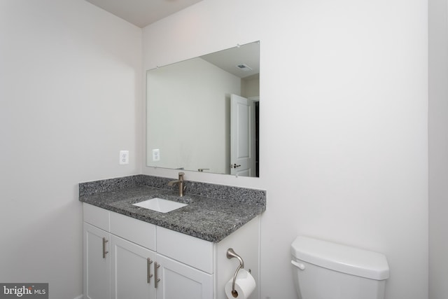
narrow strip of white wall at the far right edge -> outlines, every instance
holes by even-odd
[[[429,294],[448,298],[448,5],[429,1]]]

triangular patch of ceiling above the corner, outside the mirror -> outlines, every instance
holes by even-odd
[[[85,0],[138,27],[177,13],[202,0]]]

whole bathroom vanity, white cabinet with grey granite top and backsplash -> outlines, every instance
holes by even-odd
[[[139,175],[80,184],[84,298],[225,299],[239,265],[227,258],[229,248],[258,281],[265,191],[188,181],[179,197],[165,189],[166,180]],[[134,205],[153,197],[187,205],[167,213]]]

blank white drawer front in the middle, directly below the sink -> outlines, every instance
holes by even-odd
[[[111,233],[155,251],[155,225],[111,211]]]

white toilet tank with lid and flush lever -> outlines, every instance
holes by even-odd
[[[384,299],[386,256],[299,236],[291,244],[300,299]]]

